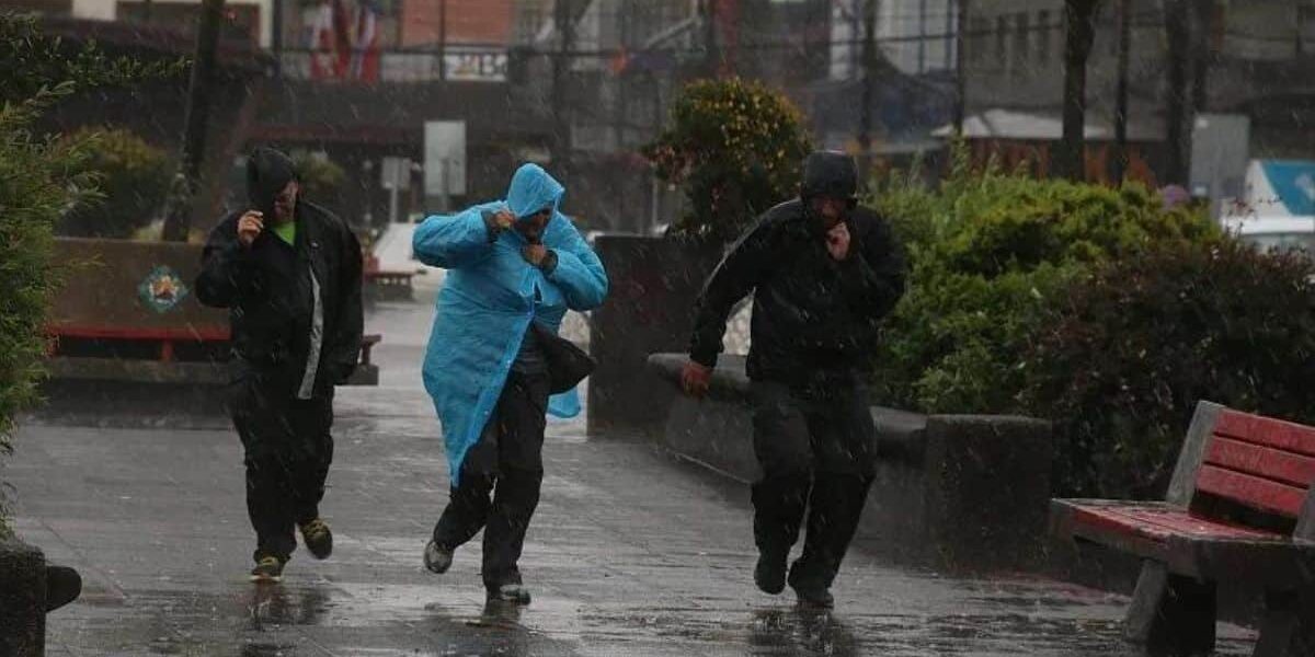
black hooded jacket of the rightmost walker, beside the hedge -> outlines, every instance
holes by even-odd
[[[849,156],[809,155],[801,198],[764,213],[704,286],[692,360],[717,364],[731,309],[752,292],[750,378],[796,382],[817,372],[871,368],[878,323],[903,294],[901,248],[885,219],[855,208],[846,218],[849,255],[836,261],[807,202],[814,196],[853,198],[856,191]]]

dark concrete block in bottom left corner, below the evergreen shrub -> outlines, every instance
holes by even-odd
[[[34,657],[46,645],[46,557],[0,540],[0,657]]]

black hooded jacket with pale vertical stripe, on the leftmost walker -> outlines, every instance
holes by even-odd
[[[247,163],[252,208],[272,217],[275,194],[293,179],[287,155],[255,151]],[[293,244],[266,225],[255,242],[243,247],[237,231],[241,215],[225,217],[210,231],[196,296],[201,304],[229,309],[233,351],[241,365],[295,396],[323,396],[351,376],[360,352],[362,255],[356,237],[329,210],[299,200]],[[316,351],[317,359],[312,357]]]

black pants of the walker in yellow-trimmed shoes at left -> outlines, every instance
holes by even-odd
[[[287,382],[247,374],[231,385],[229,414],[242,438],[255,558],[287,560],[295,526],[320,516],[333,463],[333,397],[297,399]]]

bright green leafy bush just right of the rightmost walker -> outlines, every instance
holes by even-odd
[[[885,403],[927,413],[1019,413],[1043,311],[1101,263],[1220,238],[1201,215],[1120,191],[969,171],[938,188],[897,175],[871,204],[910,255],[909,293],[876,363]]]

